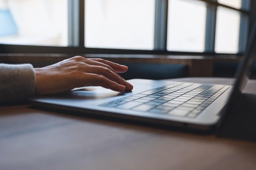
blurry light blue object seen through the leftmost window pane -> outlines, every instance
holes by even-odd
[[[8,9],[0,9],[0,37],[16,35],[18,27]]]

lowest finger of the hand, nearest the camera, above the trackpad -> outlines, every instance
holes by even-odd
[[[116,82],[113,82],[103,75],[85,73],[84,77],[85,78],[83,78],[83,81],[85,81],[86,84],[89,84],[90,86],[101,86],[101,87],[108,88],[113,91],[119,91],[119,92],[125,91],[126,89],[125,86],[118,84]]]

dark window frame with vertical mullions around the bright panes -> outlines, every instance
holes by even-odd
[[[250,0],[250,9],[236,9],[234,7],[220,4],[217,0],[197,0],[207,5],[206,39],[204,52],[167,51],[167,19],[168,0],[155,0],[155,35],[154,50],[132,50],[132,49],[101,49],[85,47],[85,0],[68,0],[68,45],[69,46],[34,46],[34,45],[12,45],[0,44],[0,53],[66,53],[66,54],[156,54],[156,55],[242,55],[245,51],[247,38],[249,36],[249,23],[243,24],[240,20],[240,31],[246,31],[246,36],[239,35],[239,51],[236,54],[215,53],[215,27],[217,8],[225,7],[236,10],[246,15],[252,24],[252,12],[256,10],[253,0]],[[244,1],[244,0],[242,0]]]

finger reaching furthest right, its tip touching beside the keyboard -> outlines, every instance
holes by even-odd
[[[106,78],[108,78],[108,79],[110,79],[114,82],[117,82],[118,84],[124,85],[124,86],[126,86],[127,91],[131,91],[132,88],[133,88],[133,86],[130,83],[126,82],[126,80],[119,77],[113,71],[111,71],[110,69],[108,69],[106,67],[103,67],[103,66],[89,66],[87,68],[87,71],[89,73],[94,73],[94,74],[97,74],[97,75],[103,75]]]

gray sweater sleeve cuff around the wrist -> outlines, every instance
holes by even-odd
[[[34,95],[35,85],[31,64],[0,64],[0,102],[27,99]]]

